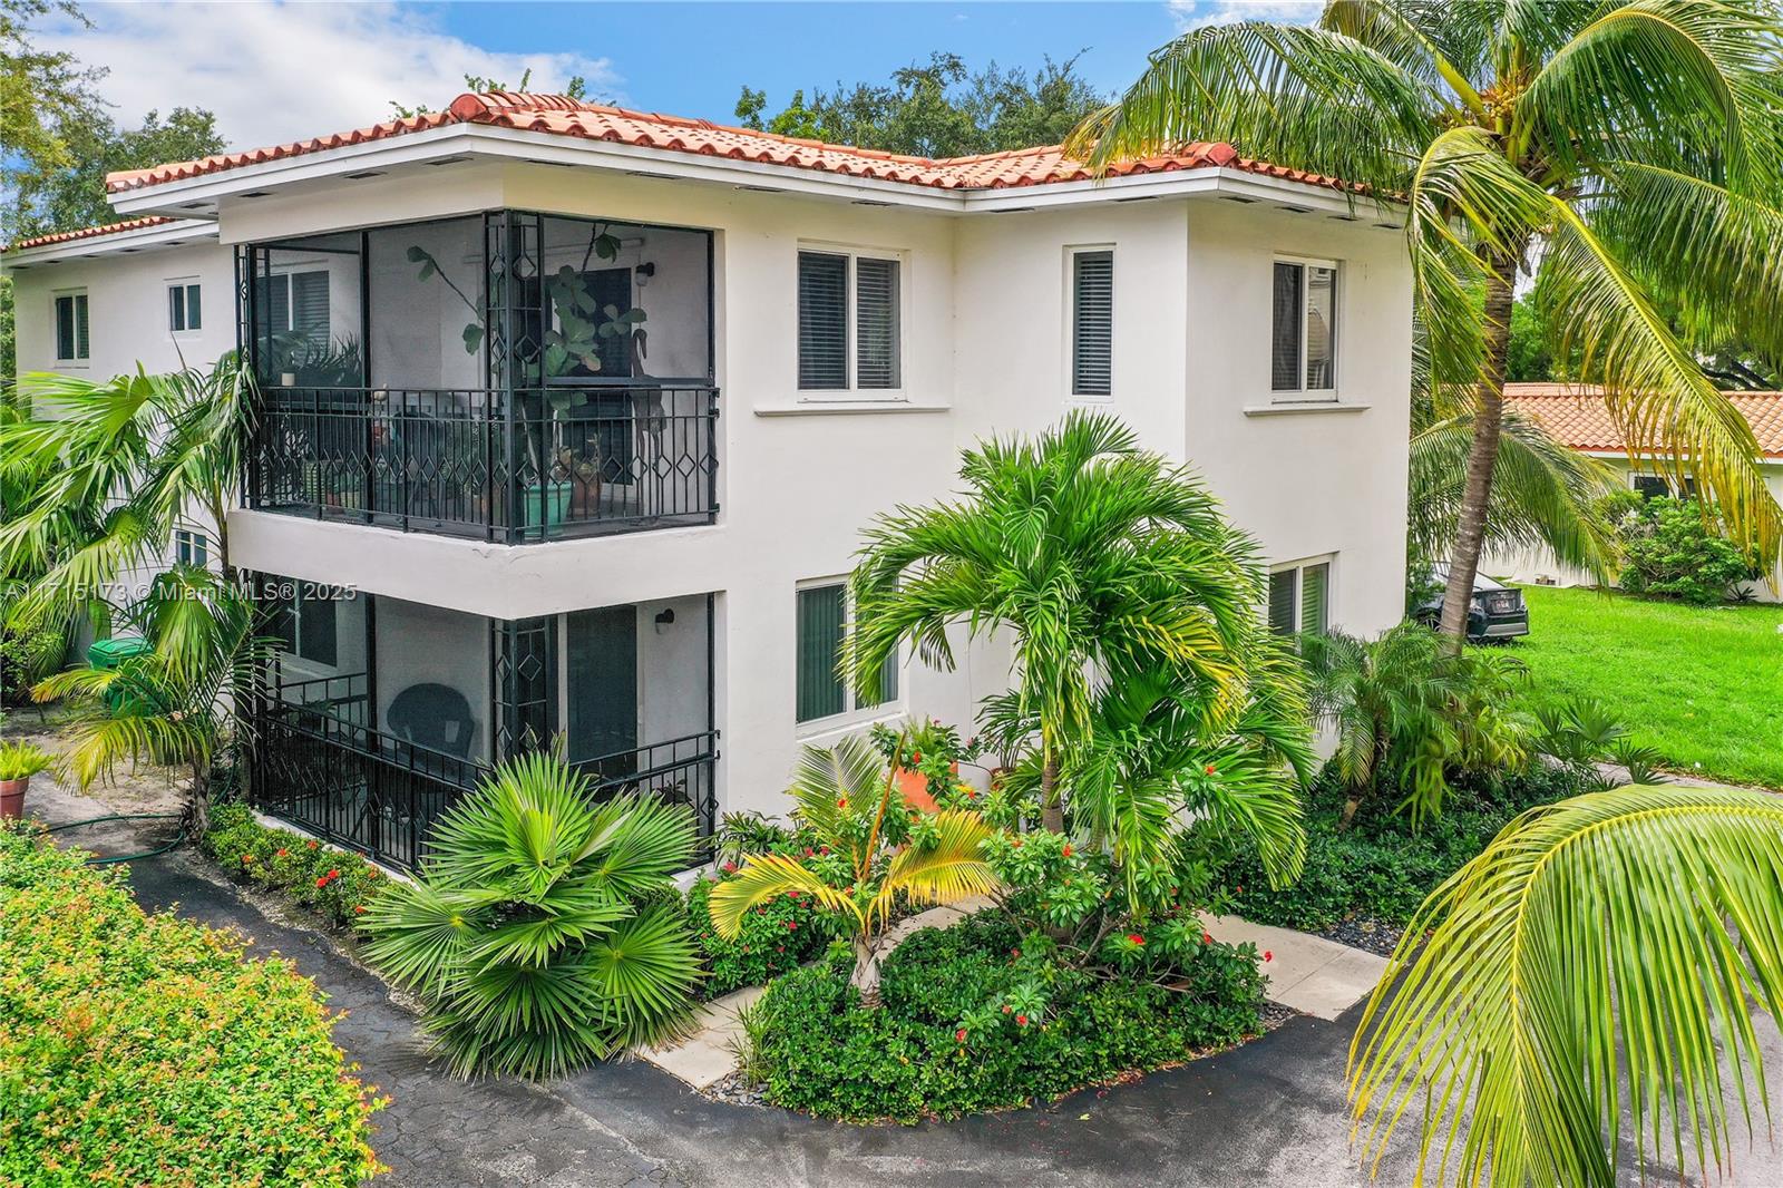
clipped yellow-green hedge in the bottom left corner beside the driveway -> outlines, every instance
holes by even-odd
[[[0,828],[0,1183],[358,1184],[383,1102],[323,995]]]

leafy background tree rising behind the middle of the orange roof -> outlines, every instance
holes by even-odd
[[[744,127],[918,157],[963,157],[1057,144],[1105,100],[1077,73],[1077,55],[1039,70],[972,73],[957,54],[934,52],[890,82],[836,84],[834,91],[793,91],[777,114],[767,93],[744,87],[736,118]]]

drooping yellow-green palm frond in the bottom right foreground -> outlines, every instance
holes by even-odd
[[[1533,808],[1425,901],[1368,1002],[1348,1074],[1364,1158],[1410,1110],[1439,1183],[1610,1188],[1624,1134],[1642,1172],[1694,1156],[1708,1181],[1740,1115],[1751,1136],[1747,1079],[1763,1092],[1754,1006],[1783,1019],[1783,797]]]

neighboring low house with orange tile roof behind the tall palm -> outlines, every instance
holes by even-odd
[[[1753,426],[1765,487],[1783,503],[1783,392],[1726,392],[1726,396]],[[1628,442],[1596,385],[1507,384],[1505,401],[1508,408],[1541,421],[1562,444],[1603,460],[1633,491],[1647,496],[1696,494],[1692,480],[1685,480],[1685,491],[1674,491],[1649,457],[1630,457]],[[1530,585],[1596,585],[1596,578],[1573,565],[1562,565],[1546,548],[1491,551],[1480,558],[1480,569],[1505,582]],[[1778,601],[1778,590],[1767,582],[1749,582],[1746,589],[1760,601]]]

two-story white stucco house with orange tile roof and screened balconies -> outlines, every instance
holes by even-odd
[[[1057,148],[924,161],[465,95],[109,186],[216,239],[11,253],[21,366],[57,364],[64,289],[89,369],[150,350],[180,276],[209,350],[239,316],[264,391],[232,549],[287,639],[257,796],[394,862],[537,738],[711,828],[783,812],[802,742],[968,721],[1007,648],[856,697],[842,582],[875,514],[1072,407],[1205,474],[1278,628],[1400,619],[1401,232],[1225,144],[1097,182]]]

